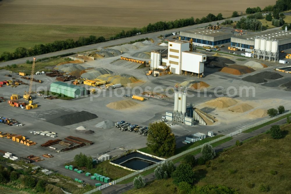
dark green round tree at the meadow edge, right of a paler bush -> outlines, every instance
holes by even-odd
[[[173,183],[179,184],[180,182],[186,182],[192,184],[194,179],[194,172],[189,164],[182,163],[172,174]]]

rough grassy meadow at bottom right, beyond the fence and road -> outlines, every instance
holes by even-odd
[[[291,193],[291,124],[281,126],[283,137],[272,139],[262,134],[239,147],[222,152],[206,165],[193,168],[193,186],[224,185],[239,193],[262,193],[260,185],[269,187],[270,194]],[[177,193],[172,179],[155,180],[145,188],[127,193]]]

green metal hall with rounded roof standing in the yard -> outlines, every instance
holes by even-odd
[[[51,83],[49,90],[51,92],[63,94],[72,98],[78,98],[87,94],[86,88],[75,86],[65,82],[53,82]]]

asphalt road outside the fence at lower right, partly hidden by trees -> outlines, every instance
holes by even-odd
[[[220,151],[223,151],[223,149],[226,149],[228,147],[231,147],[233,145],[235,145],[235,142],[237,140],[239,140],[240,142],[246,140],[246,139],[249,139],[251,137],[254,137],[254,136],[257,136],[257,135],[260,135],[262,133],[265,133],[267,130],[269,130],[271,128],[272,125],[283,125],[286,123],[286,119],[282,119],[280,121],[277,121],[275,123],[272,123],[270,125],[267,125],[265,127],[262,127],[260,129],[257,129],[255,131],[252,131],[250,133],[239,133],[237,135],[234,135],[232,136],[233,139],[228,141],[228,142],[225,142],[217,147],[214,147],[214,150],[215,152],[220,152]],[[201,154],[196,154],[195,155],[195,158],[199,158],[201,156]],[[179,165],[180,162],[176,163],[175,166]],[[145,177],[145,180],[146,182],[149,182],[149,181],[153,181],[155,179],[155,174],[154,173],[151,173],[151,174],[148,174],[146,175]],[[127,183],[127,184],[116,184],[116,185],[112,185],[112,186],[109,186],[105,189],[102,189],[102,193],[104,194],[116,194],[116,193],[124,193],[126,191],[129,191],[131,189],[133,189],[133,182],[130,182],[130,183]]]

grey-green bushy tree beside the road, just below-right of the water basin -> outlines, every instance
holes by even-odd
[[[154,170],[155,177],[157,179],[167,179],[171,177],[171,174],[175,170],[175,165],[173,161],[164,160],[161,165],[157,166]]]

